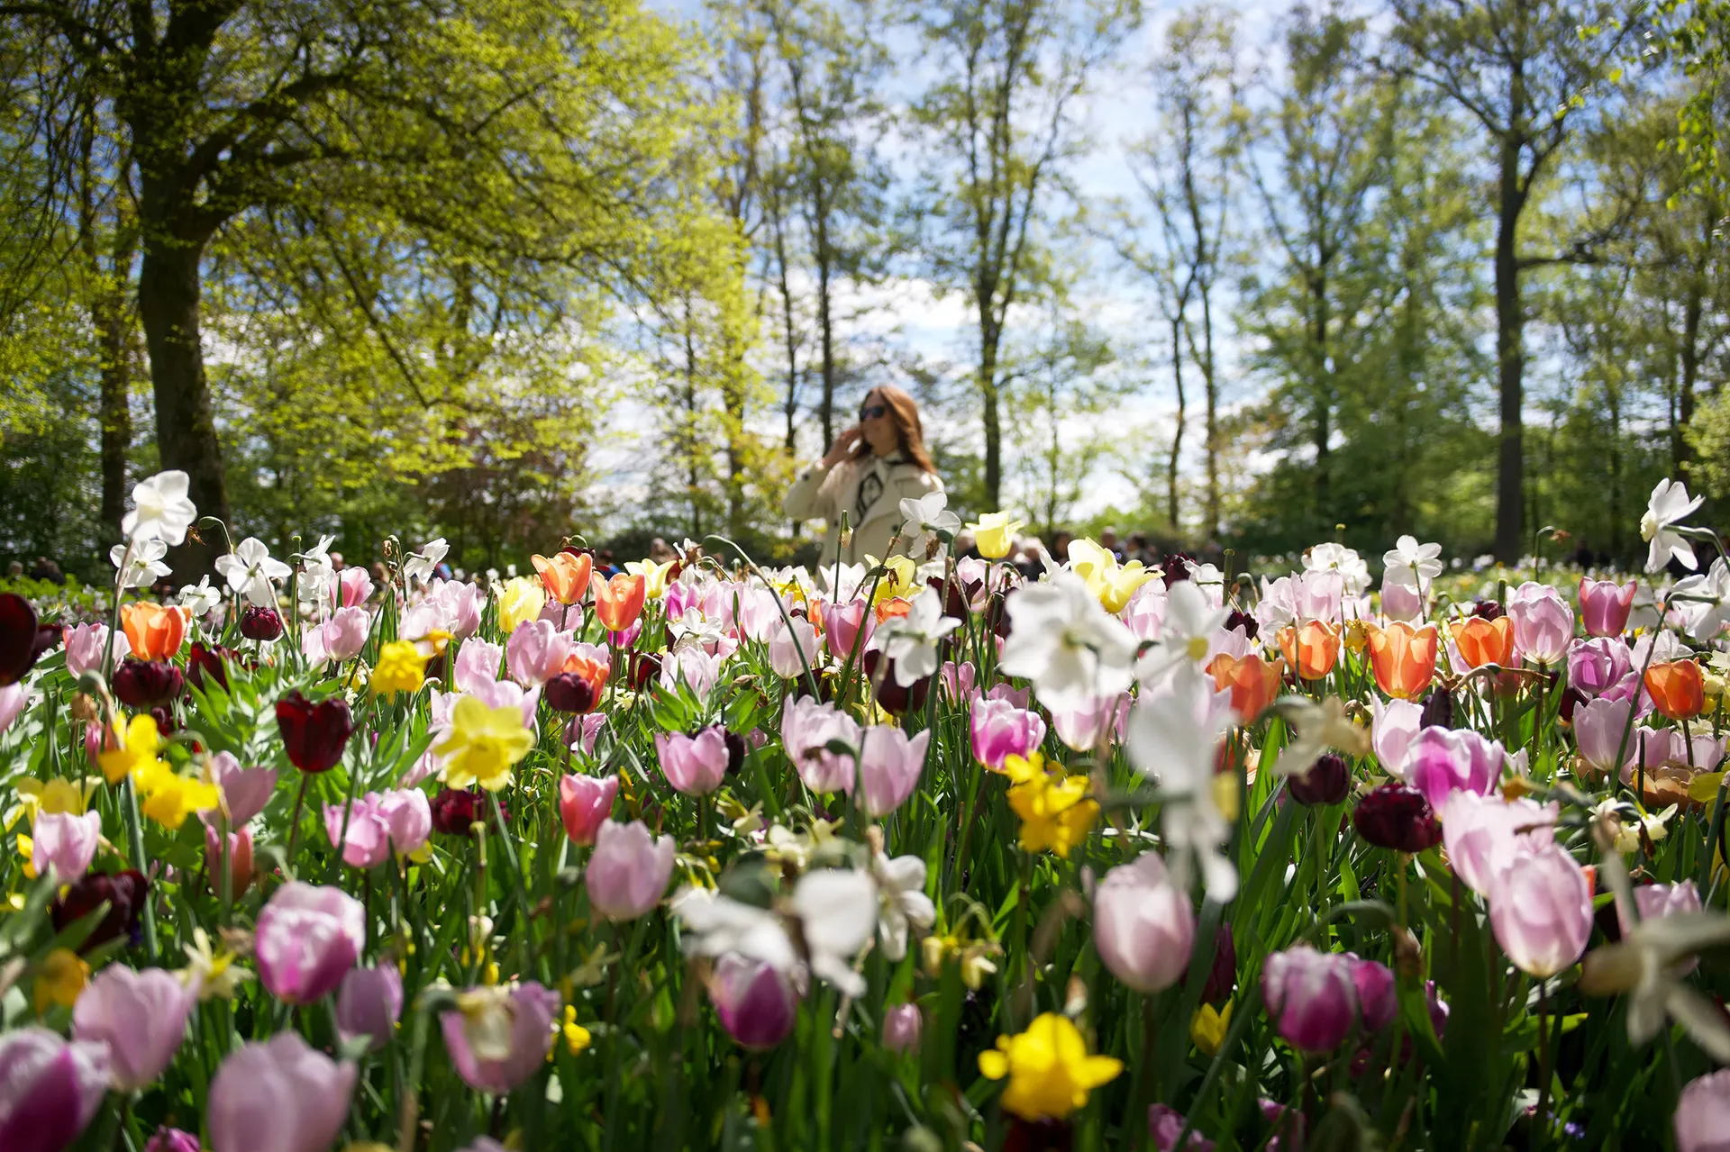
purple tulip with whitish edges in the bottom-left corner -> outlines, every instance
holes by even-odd
[[[66,1041],[47,1027],[0,1033],[0,1149],[61,1152],[107,1095],[107,1045]]]

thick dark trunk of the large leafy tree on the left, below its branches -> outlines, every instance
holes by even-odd
[[[149,183],[149,180],[145,182]],[[187,474],[187,495],[199,515],[230,521],[221,443],[211,417],[199,344],[199,263],[202,240],[180,240],[159,218],[145,214],[144,265],[138,270],[138,317],[151,353],[156,394],[156,450],[161,467]],[[195,579],[215,567],[221,541],[194,528],[170,554],[175,576]]]

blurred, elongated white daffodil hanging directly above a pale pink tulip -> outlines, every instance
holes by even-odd
[[[1214,751],[1230,723],[1230,702],[1221,702],[1213,682],[1187,666],[1130,709],[1124,733],[1130,763],[1154,777],[1166,797],[1159,829],[1180,886],[1189,884],[1185,877],[1194,863],[1209,899],[1220,903],[1237,894],[1237,868],[1221,851],[1232,825],[1220,810],[1213,771]],[[1230,775],[1220,780],[1237,785]]]

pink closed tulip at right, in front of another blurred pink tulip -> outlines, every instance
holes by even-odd
[[[1521,972],[1555,976],[1586,951],[1592,884],[1560,844],[1519,844],[1490,887],[1490,927]]]

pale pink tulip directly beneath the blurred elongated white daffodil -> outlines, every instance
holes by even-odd
[[[1093,893],[1093,946],[1112,976],[1142,993],[1171,988],[1189,969],[1195,910],[1159,853],[1105,874]]]

